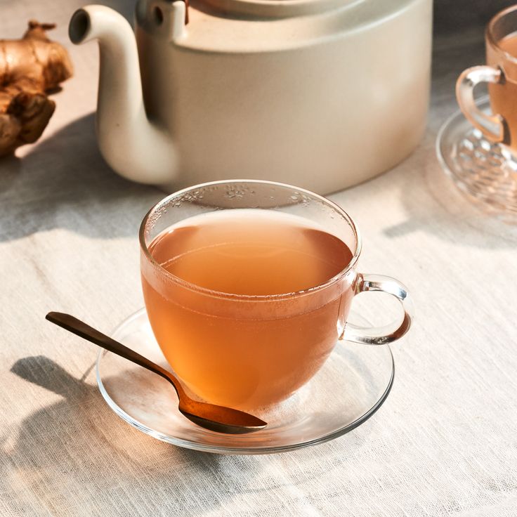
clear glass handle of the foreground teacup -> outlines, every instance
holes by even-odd
[[[384,275],[359,275],[355,294],[367,291],[381,291],[395,296],[403,308],[403,318],[383,327],[365,328],[347,322],[341,339],[366,345],[386,345],[401,338],[410,329],[413,319],[413,303],[405,286],[395,278]]]

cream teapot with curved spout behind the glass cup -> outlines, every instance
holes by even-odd
[[[100,152],[176,190],[228,178],[320,193],[376,176],[426,124],[432,0],[138,0],[72,15],[97,39]]]

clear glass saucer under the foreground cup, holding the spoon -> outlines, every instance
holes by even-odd
[[[354,315],[350,320],[367,326]],[[144,309],[122,322],[112,337],[170,370]],[[243,435],[192,424],[178,412],[178,398],[167,381],[118,355],[100,351],[96,372],[107,404],[143,433],[204,452],[270,454],[323,443],[360,426],[388,397],[394,362],[387,345],[338,343],[320,372],[291,398],[254,412],[268,422],[266,428]]]

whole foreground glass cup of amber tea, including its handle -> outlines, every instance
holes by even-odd
[[[210,403],[279,403],[340,340],[380,345],[410,328],[403,284],[358,273],[351,218],[300,188],[221,181],[181,190],[145,216],[140,246],[157,342],[183,383]],[[395,296],[400,321],[382,329],[347,323],[353,296],[365,291]]]

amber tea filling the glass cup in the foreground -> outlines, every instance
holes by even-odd
[[[167,228],[148,250],[161,266],[143,268],[152,330],[186,386],[211,403],[249,409],[287,398],[343,329],[351,285],[314,288],[353,254],[308,219],[214,211]]]

